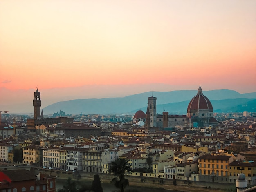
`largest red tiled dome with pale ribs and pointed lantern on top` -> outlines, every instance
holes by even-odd
[[[188,105],[188,112],[191,110],[208,109],[213,110],[210,100],[203,95],[201,86],[198,88],[198,94],[194,96]]]

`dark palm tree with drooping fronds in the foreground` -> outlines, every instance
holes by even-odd
[[[131,172],[130,165],[127,165],[127,162],[128,160],[119,158],[109,163],[108,172],[116,176],[110,183],[113,183],[121,192],[124,192],[124,188],[129,185],[128,179],[124,177],[125,172]]]

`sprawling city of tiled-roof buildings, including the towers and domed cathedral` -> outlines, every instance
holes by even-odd
[[[157,114],[151,96],[147,112],[139,110],[130,123],[44,118],[40,92],[34,96],[34,119],[27,126],[0,125],[1,162],[107,174],[111,161],[125,158],[132,176],[235,183],[242,172],[249,185],[256,184],[256,118],[217,122],[201,87],[186,115]],[[38,188],[36,181],[31,187]]]

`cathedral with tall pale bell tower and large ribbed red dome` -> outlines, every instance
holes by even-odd
[[[191,99],[186,115],[169,115],[169,112],[156,113],[156,97],[148,97],[146,112],[146,127],[215,127],[218,122],[213,118],[213,107],[210,100],[202,93],[201,86],[198,93]]]

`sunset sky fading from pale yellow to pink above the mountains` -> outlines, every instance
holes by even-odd
[[[256,91],[256,0],[0,1],[0,90],[199,84]]]

